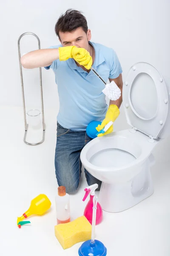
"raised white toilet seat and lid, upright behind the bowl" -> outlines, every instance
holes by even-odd
[[[123,105],[127,122],[137,130],[158,138],[168,114],[168,91],[155,67],[134,64],[123,84]]]

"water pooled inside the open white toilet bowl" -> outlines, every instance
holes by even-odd
[[[132,154],[118,148],[107,148],[96,152],[89,160],[95,166],[104,168],[121,167],[136,160]]]

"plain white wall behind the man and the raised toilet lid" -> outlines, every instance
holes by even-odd
[[[123,69],[123,78],[138,61],[155,66],[170,83],[170,1],[57,1],[7,0],[0,8],[0,104],[22,105],[17,40],[25,32],[33,32],[41,48],[59,44],[54,32],[55,23],[66,9],[84,12],[91,29],[91,41],[115,49]],[[20,42],[21,54],[37,49],[37,39],[26,35]],[[26,106],[40,99],[39,69],[23,70]],[[45,108],[59,102],[52,70],[42,68]],[[40,102],[39,102],[40,103]],[[40,105],[40,104],[39,104]]]

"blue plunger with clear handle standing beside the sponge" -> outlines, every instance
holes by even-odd
[[[79,247],[79,256],[106,256],[107,254],[107,249],[105,245],[99,240],[94,239],[95,225],[96,225],[96,209],[97,209],[97,196],[94,195],[91,240],[85,241]]]

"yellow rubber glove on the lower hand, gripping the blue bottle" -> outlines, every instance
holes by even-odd
[[[105,125],[107,125],[110,121],[114,122],[116,118],[119,116],[119,113],[119,108],[116,105],[110,105],[108,111],[106,112],[105,119],[103,120],[101,125],[98,125],[96,127],[96,130],[101,131],[105,127]],[[110,134],[112,131],[113,125],[111,125],[111,127],[109,127],[108,130],[105,131],[105,133],[98,134],[97,137],[102,137],[103,135]]]

